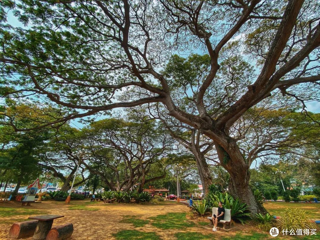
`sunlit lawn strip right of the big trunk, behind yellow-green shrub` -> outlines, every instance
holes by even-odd
[[[310,218],[320,219],[320,204],[316,203],[266,202],[263,206],[270,214],[275,216],[279,216],[285,208],[299,208],[309,213]]]

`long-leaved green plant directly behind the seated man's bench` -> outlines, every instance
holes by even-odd
[[[231,218],[239,220],[241,224],[244,224],[245,220],[251,218],[247,204],[241,203],[239,198],[235,200],[228,193],[208,194],[206,199],[209,208],[218,207],[219,201],[221,201],[224,208],[231,209]]]

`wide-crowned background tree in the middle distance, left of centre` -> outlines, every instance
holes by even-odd
[[[93,122],[84,129],[90,163],[83,164],[100,175],[111,190],[129,190],[164,178],[169,164],[164,162],[172,149],[172,139],[156,121],[133,122],[110,118]],[[156,175],[152,167],[157,167]]]

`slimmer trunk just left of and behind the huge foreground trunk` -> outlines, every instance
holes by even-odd
[[[212,176],[209,165],[207,164],[207,161],[205,160],[203,154],[200,152],[199,148],[192,146],[191,151],[196,158],[196,164],[198,167],[203,192],[204,195],[206,195],[209,192],[209,186],[212,184]]]

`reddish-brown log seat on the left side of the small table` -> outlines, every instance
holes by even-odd
[[[9,238],[20,239],[32,237],[35,233],[38,220],[13,223],[9,230]]]

